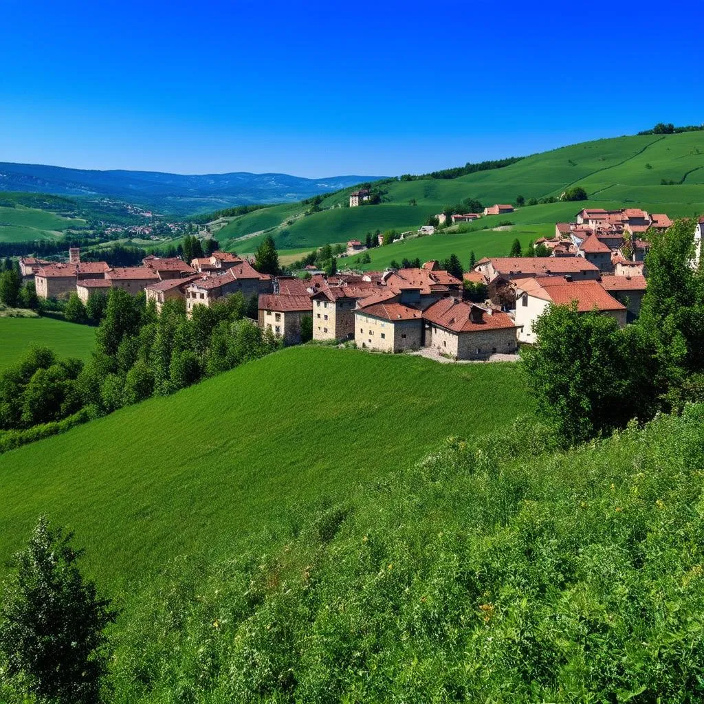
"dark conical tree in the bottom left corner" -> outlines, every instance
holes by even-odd
[[[40,517],[15,555],[0,606],[0,653],[16,689],[40,702],[97,704],[114,622],[110,601],[77,567],[73,534]]]

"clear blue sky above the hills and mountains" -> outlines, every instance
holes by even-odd
[[[397,175],[704,121],[701,0],[0,0],[0,161]]]

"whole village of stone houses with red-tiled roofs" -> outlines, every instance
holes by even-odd
[[[510,212],[511,207],[496,205],[486,211]],[[453,216],[460,221],[479,217]],[[703,223],[700,218],[698,243]],[[312,268],[295,277],[260,273],[253,261],[221,251],[189,263],[150,255],[141,266],[111,268],[105,262],[83,262],[77,248],[70,249],[67,263],[22,258],[20,271],[25,281],[34,279],[39,298],[75,293],[86,303],[92,294],[110,289],[144,291],[157,309],[172,298],[182,299],[190,315],[194,306],[212,306],[239,292],[258,297],[259,327],[288,345],[305,341],[306,327],[308,337],[312,327],[314,341],[488,360],[515,354],[519,344],[534,344],[535,322],[551,303],[574,302],[580,312],[597,310],[621,327],[636,320],[647,287],[649,244],[643,235],[670,225],[667,215],[639,208],[585,208],[573,222],[556,223],[553,237],[534,243],[549,256],[484,258],[463,280],[442,270],[436,260],[420,268],[334,275]],[[352,240],[346,254],[364,249]],[[472,296],[477,290],[485,294],[482,300]]]

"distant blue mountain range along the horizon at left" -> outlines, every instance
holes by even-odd
[[[168,213],[196,213],[250,203],[300,201],[379,178],[353,175],[309,179],[244,171],[180,175],[0,162],[0,191],[107,197]]]

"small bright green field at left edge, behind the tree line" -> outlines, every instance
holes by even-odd
[[[0,318],[0,370],[23,358],[32,345],[50,347],[63,357],[89,358],[95,328],[54,318]]]

